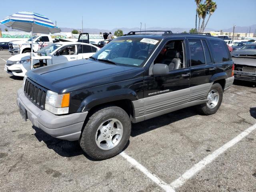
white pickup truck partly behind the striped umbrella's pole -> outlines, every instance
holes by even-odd
[[[50,35],[33,36],[26,41],[12,41],[9,43],[9,52],[12,55],[31,52],[31,40],[33,39],[33,51],[37,52],[43,47],[53,43]]]

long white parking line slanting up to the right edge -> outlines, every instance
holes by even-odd
[[[234,139],[230,140],[226,144],[224,144],[222,147],[215,150],[212,154],[206,156],[203,160],[195,164],[190,170],[187,170],[182,176],[180,176],[178,179],[176,179],[174,182],[172,182],[170,185],[172,188],[178,188],[182,186],[186,180],[190,179],[194,174],[196,174],[198,171],[202,170],[207,164],[212,162],[216,157],[218,157],[220,154],[225,152],[228,148],[234,146],[234,144],[238,143],[242,138],[246,137],[248,134],[250,134],[253,130],[256,129],[256,124],[249,127],[248,129],[244,130],[242,133],[240,133],[238,136],[236,136]]]

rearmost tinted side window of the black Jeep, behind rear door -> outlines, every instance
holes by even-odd
[[[212,52],[216,63],[230,60],[225,42],[210,40],[210,44],[212,46]]]

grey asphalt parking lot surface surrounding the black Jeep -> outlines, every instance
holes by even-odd
[[[235,82],[211,116],[186,108],[133,124],[122,154],[94,161],[22,120],[9,57],[0,51],[0,191],[256,191],[255,84]]]

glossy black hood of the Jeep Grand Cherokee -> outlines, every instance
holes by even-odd
[[[57,93],[72,92],[144,75],[144,68],[76,60],[30,70],[28,78]]]

